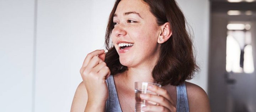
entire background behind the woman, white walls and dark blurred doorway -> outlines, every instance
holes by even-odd
[[[212,112],[256,112],[256,1],[177,0]],[[68,112],[114,0],[0,0],[0,112]]]

